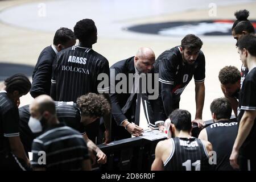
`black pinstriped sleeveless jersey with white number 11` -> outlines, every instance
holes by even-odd
[[[164,162],[164,170],[200,171],[206,169],[205,165],[208,163],[209,155],[200,139],[175,137],[171,138],[170,142],[173,149]]]

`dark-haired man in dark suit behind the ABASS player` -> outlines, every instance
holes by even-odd
[[[52,63],[56,53],[62,49],[75,45],[76,37],[69,28],[61,27],[55,32],[53,44],[43,49],[38,57],[38,62],[32,75],[30,94],[37,97],[42,94],[50,94]]]

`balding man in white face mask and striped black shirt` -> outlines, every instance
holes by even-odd
[[[44,133],[32,143],[34,170],[90,170],[88,148],[82,135],[57,119],[55,103],[42,95],[30,105],[28,126]],[[46,163],[47,162],[47,163]]]

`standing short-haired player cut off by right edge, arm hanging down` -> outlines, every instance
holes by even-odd
[[[256,36],[243,35],[238,39],[240,59],[249,69],[240,90],[238,134],[234,142],[230,164],[233,168],[256,170]],[[238,158],[239,155],[239,158]],[[239,165],[238,165],[239,164]]]

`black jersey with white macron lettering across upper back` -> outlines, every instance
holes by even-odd
[[[217,164],[214,165],[214,170],[233,171],[229,157],[237,137],[237,122],[218,121],[206,127],[206,131],[208,141],[212,143],[213,151],[217,155]]]

